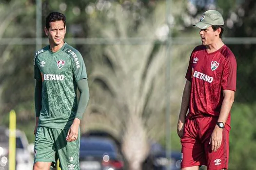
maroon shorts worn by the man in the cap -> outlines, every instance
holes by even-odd
[[[208,170],[228,169],[229,129],[226,125],[217,152],[212,151],[209,144],[216,123],[215,117],[186,120],[181,138],[181,168],[205,165]]]

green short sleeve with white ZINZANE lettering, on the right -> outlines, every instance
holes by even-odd
[[[79,52],[76,55],[77,57],[73,58],[72,69],[75,80],[78,82],[81,79],[87,79],[87,72],[82,55]]]

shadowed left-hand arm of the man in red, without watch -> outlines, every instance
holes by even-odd
[[[177,123],[177,134],[180,138],[183,136],[184,122],[185,122],[185,118],[189,108],[190,92],[191,92],[191,82],[187,80],[183,90],[182,101],[181,101],[180,112],[179,112],[178,123]]]

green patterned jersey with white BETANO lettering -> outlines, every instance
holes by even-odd
[[[44,47],[35,55],[34,78],[42,81],[38,126],[68,129],[78,109],[77,82],[87,79],[81,54],[67,43],[57,52]]]

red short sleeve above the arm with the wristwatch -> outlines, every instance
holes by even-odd
[[[221,86],[223,90],[236,91],[236,58],[234,55],[226,59]]]

